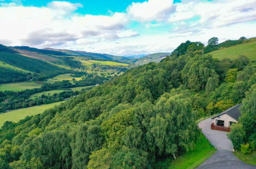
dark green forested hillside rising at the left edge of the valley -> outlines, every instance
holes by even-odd
[[[43,55],[37,53],[36,50],[36,48],[29,47],[14,48],[0,45],[0,83],[39,80],[68,71],[51,63],[58,62],[57,57]],[[32,53],[34,54],[33,57],[30,55]],[[49,57],[48,60],[47,57]],[[62,59],[59,62],[65,64]]]

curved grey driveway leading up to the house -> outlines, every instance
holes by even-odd
[[[211,130],[212,119],[208,118],[199,123],[199,128],[202,129],[205,137],[217,149],[216,153],[207,159],[203,164],[198,166],[198,169],[255,169],[256,166],[246,164],[235,157],[232,153],[232,143],[227,138],[227,132]]]

